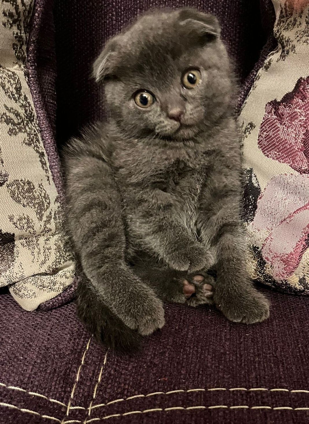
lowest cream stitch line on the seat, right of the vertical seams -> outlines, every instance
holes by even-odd
[[[298,408],[292,408],[290,406],[277,406],[277,407],[271,407],[271,406],[248,406],[248,405],[235,405],[235,406],[227,406],[227,405],[213,405],[213,406],[203,406],[203,405],[199,405],[199,406],[189,406],[189,407],[182,407],[182,406],[174,406],[174,407],[170,407],[170,408],[153,408],[153,409],[145,409],[143,411],[129,411],[129,412],[125,412],[122,414],[112,414],[112,415],[107,415],[105,417],[101,417],[101,418],[91,418],[89,420],[86,421],[86,423],[91,423],[91,422],[95,422],[95,421],[101,421],[101,420],[106,420],[108,418],[116,418],[116,417],[123,417],[123,416],[127,416],[127,415],[134,415],[134,414],[145,414],[145,413],[149,413],[149,412],[168,412],[168,411],[175,411],[175,410],[198,410],[198,409],[269,409],[269,410],[273,410],[273,411],[278,411],[278,410],[292,410],[292,411],[308,411],[309,407],[298,407]],[[69,424],[69,421],[64,421],[64,424]]]

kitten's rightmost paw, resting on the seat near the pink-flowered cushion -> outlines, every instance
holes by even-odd
[[[216,301],[216,296],[214,296]],[[269,302],[259,292],[242,293],[217,304],[228,320],[243,324],[254,324],[269,317]]]

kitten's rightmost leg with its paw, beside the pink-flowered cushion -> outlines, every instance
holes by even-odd
[[[235,322],[253,324],[269,316],[269,304],[252,285],[246,269],[246,239],[240,220],[240,158],[214,157],[200,202],[198,227],[206,245],[214,249],[217,281],[214,302]]]

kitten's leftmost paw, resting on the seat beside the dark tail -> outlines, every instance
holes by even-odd
[[[142,336],[152,334],[164,326],[162,302],[154,295],[140,296],[131,303],[130,310],[120,316],[121,320],[132,330]]]

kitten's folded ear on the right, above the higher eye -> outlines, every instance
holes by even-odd
[[[180,25],[188,33],[196,35],[202,42],[220,37],[220,25],[214,15],[205,14],[194,9],[183,9],[179,13]]]

